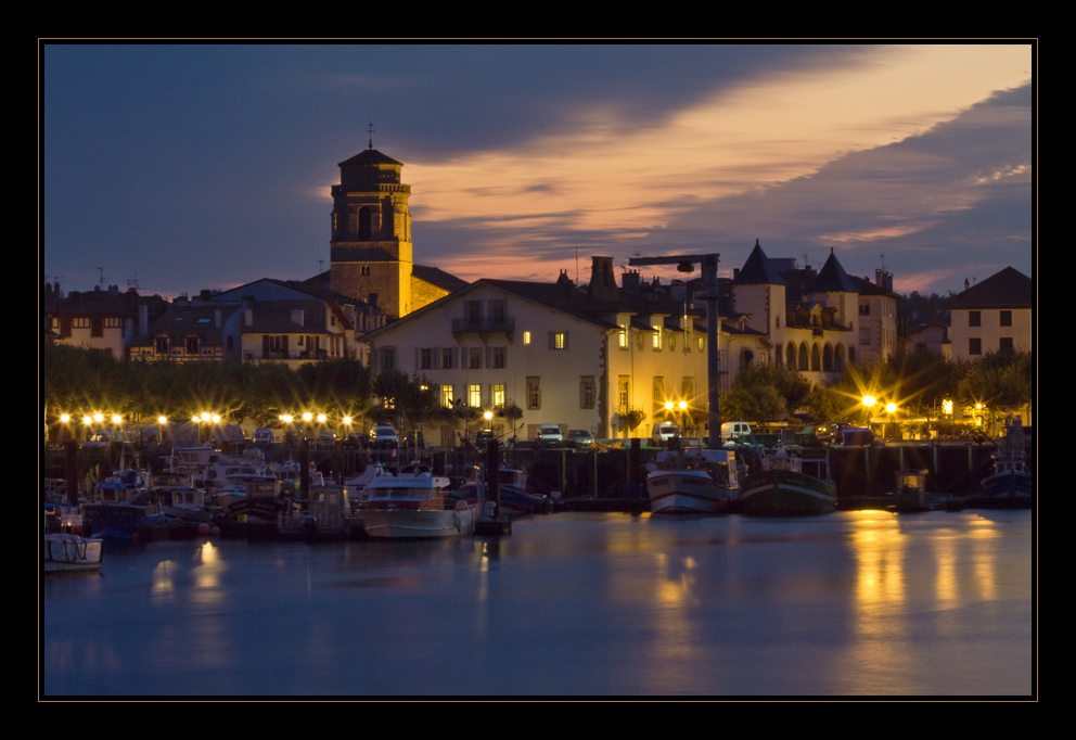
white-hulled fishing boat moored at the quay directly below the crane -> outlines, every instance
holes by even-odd
[[[646,495],[655,514],[723,514],[740,495],[733,450],[665,450],[648,468]]]

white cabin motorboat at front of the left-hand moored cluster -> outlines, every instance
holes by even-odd
[[[398,474],[380,472],[367,486],[362,526],[375,539],[456,537],[474,533],[475,506],[448,495],[449,480],[428,465],[412,464]]]

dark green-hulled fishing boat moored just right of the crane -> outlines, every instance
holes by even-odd
[[[756,516],[827,514],[836,510],[837,492],[824,457],[784,454],[761,459],[761,470],[743,482],[740,511]]]

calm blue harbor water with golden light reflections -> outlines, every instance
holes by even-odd
[[[509,536],[108,551],[41,697],[1036,693],[1034,513],[560,513]]]

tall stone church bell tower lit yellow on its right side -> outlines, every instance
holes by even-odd
[[[340,163],[332,188],[332,290],[380,307],[392,318],[411,306],[411,186],[404,165],[373,148]]]

